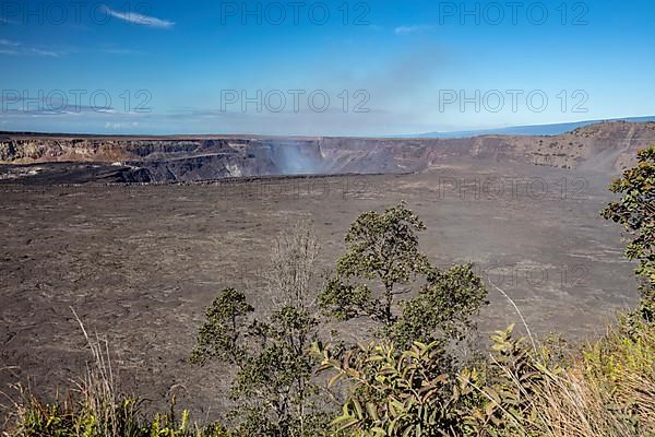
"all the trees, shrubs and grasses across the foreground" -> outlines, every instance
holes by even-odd
[[[475,346],[486,290],[471,265],[440,270],[419,251],[420,220],[400,204],[366,212],[345,253],[313,290],[319,243],[300,224],[273,248],[273,308],[222,291],[205,314],[190,365],[235,369],[234,409],[195,425],[186,411],[148,415],[117,392],[107,344],[86,335],[93,359],[74,395],[29,393],[10,406],[7,436],[655,436],[655,146],[610,189],[602,214],[632,236],[641,303],[595,342],[568,347],[514,327]],[[367,344],[326,322],[366,318]],[[337,324],[338,326],[338,324]]]

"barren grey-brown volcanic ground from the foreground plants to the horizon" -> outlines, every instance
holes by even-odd
[[[72,139],[4,140],[13,145],[4,149],[8,164],[0,181],[0,386],[29,382],[53,394],[58,385],[79,375],[88,355],[73,307],[87,329],[107,336],[127,390],[159,406],[175,393],[178,405],[191,408],[196,417],[215,417],[225,406],[225,369],[196,368],[187,361],[204,307],[215,294],[235,286],[255,306],[270,307],[272,296],[261,276],[277,233],[311,218],[322,243],[320,265],[329,269],[360,212],[401,200],[425,221],[428,231],[420,243],[433,263],[475,262],[487,281],[516,302],[539,334],[594,335],[616,310],[638,298],[634,265],[622,257],[620,229],[598,212],[612,199],[610,179],[634,150],[655,139],[648,137],[655,131],[648,125],[594,129],[568,134],[570,150],[548,152],[564,153],[556,157],[567,164],[555,164],[571,168],[534,165],[531,160],[541,155],[525,152],[549,150],[555,141],[562,144],[561,139],[471,139],[462,143],[464,149],[460,143],[371,139],[350,140],[347,149],[338,149],[326,145],[336,140],[322,139],[303,140],[320,147],[302,149],[303,158],[285,164],[285,173],[310,173],[309,166],[315,173],[368,168],[395,174],[164,185],[106,184],[119,182],[121,174],[136,174],[123,164],[112,165],[145,153],[136,152],[136,143],[124,150],[126,140],[118,145],[93,140],[98,142],[93,147],[91,140],[83,140],[86,145],[79,150],[67,149]],[[179,175],[216,179],[224,170],[231,175],[234,163],[248,160],[252,166],[233,170],[243,176],[255,168],[275,173],[281,162],[295,160],[260,143],[234,151],[238,143],[271,140],[228,139],[231,151],[225,153],[230,158],[212,158],[219,174],[193,173],[199,168],[183,173],[193,168],[190,161],[204,158],[198,144],[175,141],[157,145],[157,152],[147,149],[153,144],[146,147],[146,156],[160,153],[166,160],[134,161],[134,167],[146,168],[142,181],[167,172],[177,181]],[[214,141],[202,145],[214,151],[212,156],[225,147],[217,140],[198,141]],[[516,143],[509,146],[512,141]],[[258,157],[259,146],[267,149],[269,157]],[[182,156],[184,147],[193,151],[192,157]],[[75,150],[82,158],[70,162]],[[573,150],[579,151],[574,157]],[[94,161],[98,151],[106,160]],[[315,163],[332,167],[313,167]],[[519,320],[491,286],[489,295],[483,332]],[[344,329],[356,334],[362,324]]]

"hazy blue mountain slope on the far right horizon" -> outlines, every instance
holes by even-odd
[[[608,118],[605,120],[574,121],[553,125],[513,126],[509,128],[462,130],[455,132],[426,132],[419,134],[402,135],[402,138],[472,138],[481,135],[560,135],[577,128],[604,121],[655,122],[655,116]]]

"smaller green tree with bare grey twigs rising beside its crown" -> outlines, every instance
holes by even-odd
[[[312,382],[318,320],[310,302],[318,244],[307,224],[278,237],[267,274],[273,310],[257,317],[246,295],[218,294],[205,312],[191,362],[218,362],[237,369],[229,417],[241,436],[309,437],[325,427]]]

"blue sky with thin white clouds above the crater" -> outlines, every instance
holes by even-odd
[[[0,130],[389,135],[655,115],[655,2],[4,1]]]

